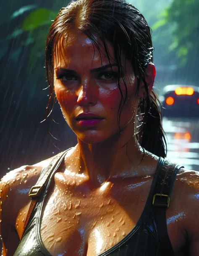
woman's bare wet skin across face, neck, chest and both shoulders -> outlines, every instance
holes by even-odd
[[[103,74],[96,72],[97,68],[109,64],[103,49],[101,60],[98,50],[94,53],[89,40],[80,34],[71,34],[68,44],[63,42],[60,46],[64,51],[60,54],[58,48],[54,63],[55,93],[65,120],[77,135],[78,144],[68,152],[51,182],[44,205],[41,237],[53,256],[79,256],[80,252],[83,256],[97,256],[118,243],[135,226],[146,203],[158,158],[146,152],[141,162],[143,150],[134,136],[134,113],[144,89],[141,84],[138,94],[135,93],[137,81],[131,65],[128,62],[125,65],[122,58],[128,95],[121,115],[123,132],[120,134],[117,117],[121,96],[115,78],[110,68]],[[113,49],[108,47],[113,57]],[[112,64],[113,60],[111,58]],[[69,69],[73,71],[68,73]],[[117,72],[116,66],[113,71]],[[152,64],[148,66],[147,75],[151,90]],[[121,90],[125,93],[122,81]],[[83,112],[98,114],[103,120],[95,126],[82,127],[76,116]],[[49,163],[47,159],[34,166],[23,166],[3,177],[3,255],[13,256],[16,251],[31,202],[29,189]],[[190,255],[199,255],[198,181],[197,172],[181,169],[174,183],[166,215],[168,235],[176,256],[184,255],[183,247],[188,241]]]

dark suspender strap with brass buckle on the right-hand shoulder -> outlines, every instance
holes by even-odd
[[[160,169],[157,182],[154,187],[152,204],[154,206],[154,214],[160,238],[162,256],[174,256],[173,248],[168,236],[166,209],[170,206],[170,198],[176,174],[182,167],[184,166],[171,164],[168,160],[165,160],[162,164],[162,168]]]

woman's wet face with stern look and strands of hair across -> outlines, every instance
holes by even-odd
[[[134,113],[137,96],[136,78],[133,69],[122,56],[121,64],[127,85],[127,99],[120,116],[121,101],[117,86],[118,66],[114,61],[113,49],[107,43],[110,63],[97,38],[99,50],[84,34],[71,34],[67,43],[60,40],[54,56],[55,94],[63,116],[73,132],[85,143],[100,143],[120,134],[120,129],[132,127],[134,134]],[[60,50],[61,49],[61,50]],[[110,67],[112,66],[112,69]],[[123,97],[126,95],[123,79],[120,78]],[[79,116],[82,114],[81,116]]]

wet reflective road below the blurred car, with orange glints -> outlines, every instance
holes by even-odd
[[[186,169],[199,171],[199,119],[163,118],[167,158]]]

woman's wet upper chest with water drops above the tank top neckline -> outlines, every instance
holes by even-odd
[[[97,256],[117,244],[138,222],[152,184],[148,178],[91,190],[87,185],[63,182],[59,175],[45,198],[39,227],[42,242],[53,256]],[[170,211],[168,219],[172,216]],[[168,222],[176,250],[177,225]]]

